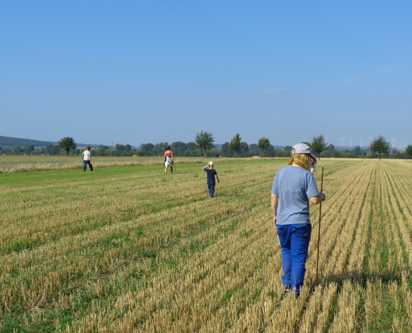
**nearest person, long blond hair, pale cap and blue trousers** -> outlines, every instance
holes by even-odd
[[[303,286],[311,240],[309,201],[318,204],[326,200],[310,172],[311,158],[316,157],[309,146],[294,145],[289,166],[276,172],[271,194],[273,224],[282,248],[282,283],[285,291],[295,290],[297,297]]]

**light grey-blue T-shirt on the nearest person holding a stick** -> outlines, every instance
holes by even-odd
[[[309,198],[319,195],[314,175],[300,166],[276,172],[272,193],[279,197],[276,224],[310,223]]]

